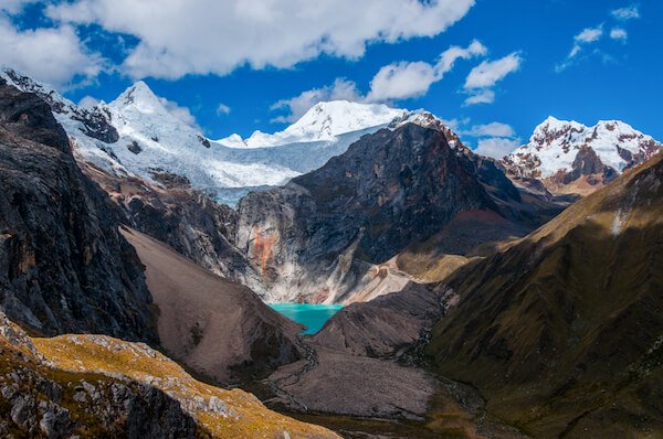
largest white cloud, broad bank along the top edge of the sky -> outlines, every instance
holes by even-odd
[[[475,0],[74,0],[50,18],[97,23],[139,43],[124,61],[135,77],[224,75],[242,65],[286,68],[320,54],[358,58],[373,42],[444,32]]]

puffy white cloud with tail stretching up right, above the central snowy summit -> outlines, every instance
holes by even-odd
[[[473,41],[466,49],[451,46],[440,55],[434,65],[422,61],[386,65],[370,82],[366,100],[388,101],[423,96],[433,83],[441,81],[453,68],[457,60],[485,55],[486,52],[483,44]]]

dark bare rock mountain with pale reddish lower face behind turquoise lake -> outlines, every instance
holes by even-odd
[[[494,213],[506,226],[483,226],[496,238],[530,231],[535,215],[503,172],[446,131],[412,122],[383,129],[317,171],[244,197],[234,244],[262,274],[266,298],[352,301],[372,280],[370,264],[464,212]]]

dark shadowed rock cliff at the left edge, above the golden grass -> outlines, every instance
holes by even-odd
[[[0,303],[44,334],[157,340],[143,267],[38,96],[0,82]]]

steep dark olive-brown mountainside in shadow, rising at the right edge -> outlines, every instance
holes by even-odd
[[[663,156],[457,271],[429,354],[537,437],[663,433]]]

